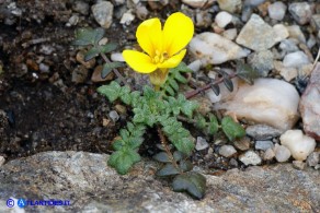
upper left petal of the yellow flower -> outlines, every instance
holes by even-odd
[[[162,31],[159,19],[144,21],[136,32],[140,47],[150,56],[155,57],[156,50],[162,51]]]

